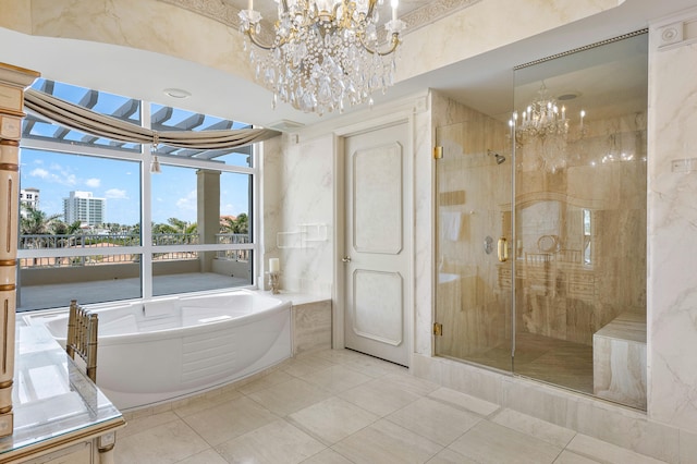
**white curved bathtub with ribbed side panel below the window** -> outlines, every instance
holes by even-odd
[[[291,356],[290,308],[246,290],[94,307],[97,384],[130,410],[244,378]],[[64,344],[68,315],[45,325]]]

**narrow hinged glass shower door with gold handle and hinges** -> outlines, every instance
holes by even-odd
[[[436,131],[442,149],[436,161],[436,307],[442,327],[436,352],[510,371],[510,131],[505,122],[460,110],[467,122]]]

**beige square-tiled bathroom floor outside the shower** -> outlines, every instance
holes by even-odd
[[[659,462],[347,350],[126,418],[117,464]]]

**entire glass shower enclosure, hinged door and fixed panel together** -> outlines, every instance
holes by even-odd
[[[449,103],[437,355],[646,410],[647,41],[516,68],[506,114]]]

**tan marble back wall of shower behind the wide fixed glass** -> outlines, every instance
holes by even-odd
[[[634,98],[639,108],[645,95]],[[590,114],[596,110],[586,109]],[[538,244],[541,236],[558,240],[546,270],[545,295],[516,302],[524,330],[590,345],[592,334],[620,314],[645,314],[646,113],[587,120],[585,135],[568,139],[565,169],[551,172],[540,161],[538,148],[528,144],[521,146],[516,156],[521,240],[516,254],[537,256],[542,253]],[[541,218],[535,209],[541,205],[559,210],[543,211]],[[587,236],[583,232],[584,210],[590,221]],[[567,256],[558,253],[560,249]],[[524,286],[529,286],[530,276],[525,276],[525,270],[522,266],[519,274]],[[561,310],[557,318],[542,320],[533,303]]]

